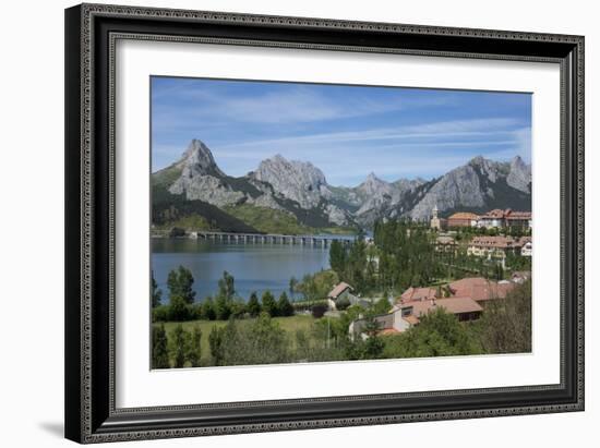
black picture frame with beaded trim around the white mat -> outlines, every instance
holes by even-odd
[[[117,409],[111,58],[119,38],[560,64],[561,383]],[[67,438],[99,443],[584,410],[583,36],[82,4],[65,10],[65,109]]]

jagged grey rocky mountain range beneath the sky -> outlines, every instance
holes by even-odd
[[[179,160],[152,174],[152,184],[155,225],[196,217],[226,231],[260,231],[256,223],[265,209],[272,210],[272,219],[296,221],[304,230],[369,229],[377,219],[423,220],[434,206],[441,216],[531,208],[531,167],[518,156],[509,162],[479,156],[432,180],[386,182],[370,173],[357,186],[334,186],[311,162],[280,155],[243,177],[230,177],[203,142],[192,140]],[[252,222],[249,210],[256,210]]]

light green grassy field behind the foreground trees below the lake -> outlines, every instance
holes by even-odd
[[[240,319],[237,320],[240,325],[249,325],[254,319]],[[277,322],[281,329],[284,329],[286,332],[289,334],[290,338],[295,338],[296,331],[299,329],[303,329],[305,331],[310,331],[312,329],[312,325],[316,319],[312,317],[311,315],[295,315],[289,317],[274,317],[273,320]],[[165,330],[167,331],[167,337],[170,338],[172,330],[175,327],[177,327],[179,324],[183,326],[183,329],[191,331],[194,326],[200,326],[200,329],[202,330],[202,359],[205,361],[208,361],[211,356],[211,348],[208,346],[208,335],[211,334],[211,330],[213,327],[224,327],[227,325],[226,320],[189,320],[189,322],[166,322]],[[160,323],[154,324],[155,326],[159,326]]]

